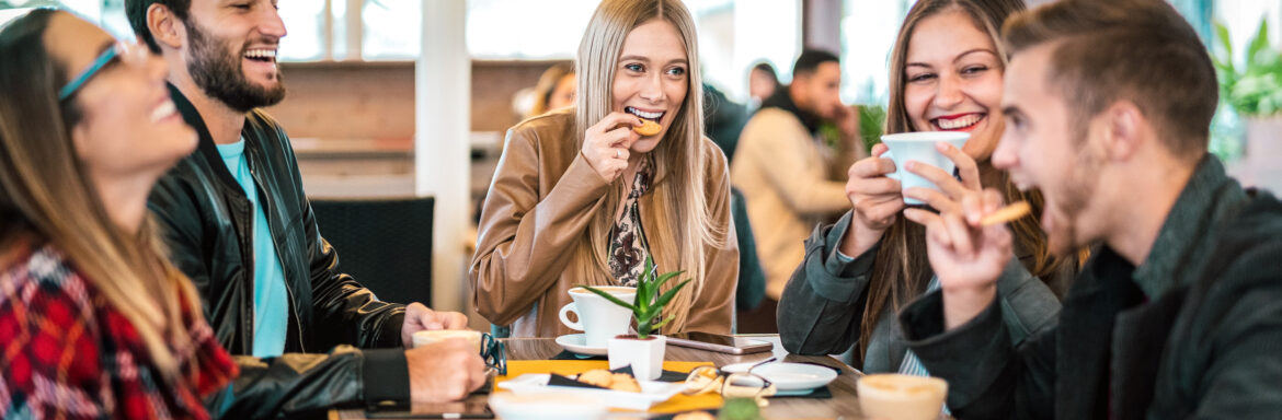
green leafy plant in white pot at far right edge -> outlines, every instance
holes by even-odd
[[[1277,169],[1272,174],[1261,173],[1269,163],[1282,160],[1282,54],[1269,45],[1268,20],[1260,19],[1241,61],[1235,61],[1233,45],[1223,23],[1215,23],[1215,38],[1211,61],[1219,78],[1220,100],[1246,122],[1246,145],[1240,163],[1245,173],[1237,175],[1247,183],[1282,178]]]

